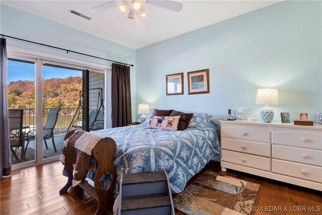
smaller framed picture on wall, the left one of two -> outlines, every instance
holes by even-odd
[[[167,96],[183,95],[183,73],[166,76]]]

